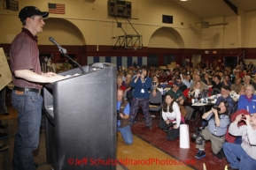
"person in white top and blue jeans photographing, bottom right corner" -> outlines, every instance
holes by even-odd
[[[244,121],[246,125],[237,127]],[[256,114],[237,115],[236,120],[229,125],[229,133],[242,136],[242,144],[224,143],[223,151],[230,164],[230,169],[255,169],[256,167]]]

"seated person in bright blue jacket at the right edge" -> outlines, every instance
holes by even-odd
[[[241,95],[238,100],[238,110],[245,109],[250,114],[256,113],[256,96],[252,85],[245,86],[245,95]]]

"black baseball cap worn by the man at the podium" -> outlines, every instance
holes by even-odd
[[[20,21],[26,20],[26,18],[30,18],[34,15],[42,16],[43,18],[47,18],[49,15],[48,11],[40,11],[35,6],[25,6],[23,9],[19,11]]]

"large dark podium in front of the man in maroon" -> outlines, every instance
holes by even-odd
[[[82,69],[43,88],[47,163],[54,170],[116,169],[116,66]],[[75,73],[81,70],[60,74]]]

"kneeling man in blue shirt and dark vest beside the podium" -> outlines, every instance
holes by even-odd
[[[126,144],[133,144],[133,135],[128,124],[130,107],[127,100],[123,98],[123,91],[117,89],[117,130]]]

